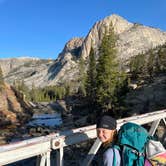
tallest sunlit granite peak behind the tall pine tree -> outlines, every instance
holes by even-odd
[[[133,55],[166,42],[166,33],[159,29],[130,23],[118,15],[111,15],[97,22],[89,31],[82,46],[81,54],[84,58],[89,55],[91,46],[97,51],[103,33],[110,24],[117,34],[118,57],[122,60],[128,60]]]

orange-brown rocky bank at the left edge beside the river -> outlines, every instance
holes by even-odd
[[[19,125],[30,118],[30,106],[15,95],[10,85],[3,85],[0,90],[0,99],[0,127]]]

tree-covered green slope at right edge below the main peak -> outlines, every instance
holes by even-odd
[[[166,44],[131,58],[130,73],[132,79],[150,79],[166,72]]]

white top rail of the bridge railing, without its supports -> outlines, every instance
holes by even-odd
[[[139,116],[119,119],[117,120],[117,128],[119,129],[121,125],[129,121],[142,125],[163,118],[166,118],[166,109],[142,114]],[[90,125],[59,133],[52,133],[47,136],[19,141],[8,145],[3,145],[0,146],[0,165],[47,153],[48,151],[50,152],[51,149],[62,149],[65,146],[80,143],[82,141],[86,141],[96,137],[96,125]],[[40,146],[43,147],[41,148]],[[35,151],[34,148],[39,149],[35,149]],[[24,149],[26,150],[25,155],[21,154],[24,153]],[[34,154],[32,150],[35,151]],[[19,153],[20,156],[18,157],[16,155],[13,155],[14,153]],[[5,155],[7,155],[6,158],[4,158]]]

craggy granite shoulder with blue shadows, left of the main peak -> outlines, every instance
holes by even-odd
[[[83,38],[73,38],[65,45],[56,62],[49,68],[48,85],[75,81],[79,75],[78,57],[80,55]]]

